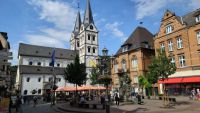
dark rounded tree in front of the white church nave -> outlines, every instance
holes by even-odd
[[[81,86],[86,82],[87,80],[86,66],[85,64],[81,64],[79,62],[78,55],[76,55],[74,63],[67,65],[64,76],[66,81],[75,84],[76,93],[77,93],[77,86]]]

